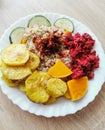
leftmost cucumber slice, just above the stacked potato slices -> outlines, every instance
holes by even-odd
[[[25,32],[24,27],[17,27],[15,29],[13,29],[9,36],[10,43],[11,44],[12,43],[21,43],[24,32]]]

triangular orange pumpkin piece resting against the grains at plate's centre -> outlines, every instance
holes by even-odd
[[[61,60],[58,60],[47,73],[56,78],[64,78],[71,75],[72,71]]]

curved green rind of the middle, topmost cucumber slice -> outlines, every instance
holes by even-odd
[[[40,19],[45,20],[45,21],[46,21],[46,25],[45,25],[45,26],[48,26],[48,27],[51,26],[50,21],[49,21],[45,16],[36,15],[36,16],[33,16],[33,17],[29,20],[27,27],[30,27],[32,20],[37,19],[37,18],[40,18]],[[42,24],[42,25],[43,25],[43,24]]]

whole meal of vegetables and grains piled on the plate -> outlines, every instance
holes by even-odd
[[[74,29],[68,18],[59,18],[51,26],[42,15],[32,17],[26,28],[15,28],[9,38],[18,44],[1,53],[2,79],[36,103],[52,104],[59,97],[81,99],[99,68],[99,57],[95,40]]]

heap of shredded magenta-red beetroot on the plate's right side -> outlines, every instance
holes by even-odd
[[[89,79],[94,77],[94,69],[99,67],[99,57],[96,51],[93,50],[95,40],[84,33],[80,35],[76,33],[74,36],[68,34],[64,43],[68,45],[70,56],[72,58],[71,69],[73,74],[72,79],[77,79],[82,76],[88,76]]]

